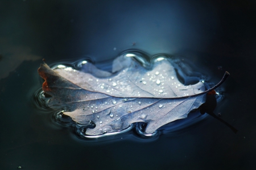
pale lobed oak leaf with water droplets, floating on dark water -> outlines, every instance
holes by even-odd
[[[38,72],[45,80],[44,92],[51,96],[49,107],[64,110],[82,125],[95,123],[86,135],[121,131],[134,122],[147,123],[144,132],[152,134],[186,118],[205,102],[207,92],[221,84],[207,91],[202,82],[184,86],[170,60],[163,57],[145,68],[135,57],[122,55],[113,61],[112,73],[86,62],[80,71],[63,65],[53,70],[41,64]]]

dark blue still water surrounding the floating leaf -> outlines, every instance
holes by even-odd
[[[255,169],[255,3],[0,1],[0,168]],[[207,117],[155,140],[85,142],[35,106],[43,58],[100,63],[131,48],[183,55],[213,82],[229,71],[215,112],[238,133]]]

